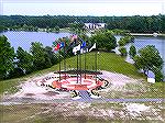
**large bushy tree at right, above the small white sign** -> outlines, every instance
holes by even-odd
[[[163,59],[160,56],[158,51],[153,45],[147,45],[144,48],[139,51],[139,55],[134,58],[134,65],[138,69],[147,70],[153,69],[162,69],[163,67]]]

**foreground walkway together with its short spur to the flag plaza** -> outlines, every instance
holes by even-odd
[[[7,99],[0,102],[0,104],[20,104],[20,103],[64,103],[64,102],[72,102],[72,101],[80,101],[80,102],[160,102],[165,103],[165,99],[158,99],[158,98],[145,98],[145,99],[108,99],[108,98],[91,98],[89,92],[86,90],[80,90],[79,96],[80,99],[73,100],[73,99],[54,99],[54,100],[35,100],[35,99],[21,99],[21,98],[14,98],[14,99]]]

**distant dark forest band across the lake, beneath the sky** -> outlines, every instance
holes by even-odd
[[[109,30],[129,30],[133,33],[165,33],[165,15],[151,16],[74,16],[74,15],[0,15],[0,31],[28,26],[33,30],[69,27],[70,23],[106,23]]]

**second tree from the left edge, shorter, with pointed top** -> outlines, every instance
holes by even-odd
[[[16,51],[18,67],[25,70],[26,74],[30,74],[33,68],[33,57],[26,51],[23,51],[22,47],[18,47]]]

